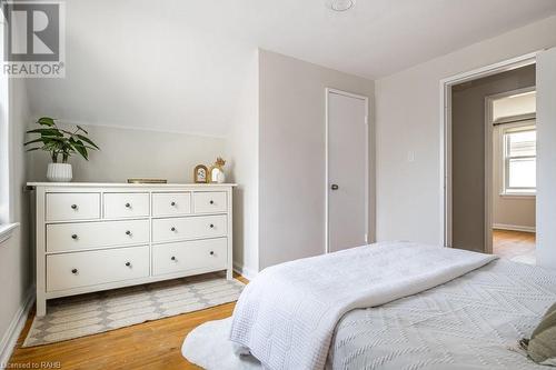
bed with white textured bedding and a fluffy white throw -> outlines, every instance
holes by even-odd
[[[363,253],[368,253],[365,248],[374,247],[361,248]],[[415,249],[441,254],[446,250],[415,243],[390,243],[380,248],[388,251],[401,249],[407,253],[414,253]],[[380,248],[373,249],[370,257],[373,261],[378,259],[378,264],[384,264],[377,258],[384,254]],[[349,253],[358,256],[361,252],[351,251]],[[421,260],[418,256],[414,258],[416,267],[430,259],[427,253],[421,253]],[[325,331],[319,331],[315,322],[310,322],[310,316],[304,317],[299,307],[287,303],[295,301],[286,296],[296,289],[277,294],[270,289],[272,282],[267,281],[261,286],[269,287],[277,296],[279,303],[274,301],[271,304],[278,308],[272,308],[269,313],[261,306],[254,309],[249,302],[240,304],[240,299],[234,319],[211,322],[193,331],[183,344],[183,354],[207,369],[261,368],[252,356],[245,356],[251,351],[257,358],[262,358],[266,368],[271,369],[543,369],[519,352],[517,341],[529,336],[545,310],[556,302],[556,273],[465,251],[447,250],[446,256],[456,258],[450,261],[443,260],[444,257],[436,258],[438,266],[450,264],[440,274],[429,273],[435,270],[434,262],[420,267],[421,271],[429,273],[426,279],[418,269],[415,269],[417,272],[406,269],[404,262],[399,264],[401,273],[393,273],[385,279],[388,282],[403,281],[403,289],[399,284],[384,283],[380,288],[378,280],[376,286],[380,289],[371,291],[374,298],[370,301],[366,297],[356,299],[355,303],[348,302],[338,311],[338,319],[331,320],[334,327],[328,343],[318,339],[328,334],[321,336]],[[364,257],[359,260],[363,266],[370,263]],[[321,258],[317,261],[309,259],[292,267],[299,270],[300,266],[308,264],[316,266],[315,273],[320,274],[324,281],[327,276],[341,274],[345,268],[335,257],[325,262]],[[330,264],[336,266],[331,271],[321,270],[322,266]],[[375,262],[373,268],[380,270]],[[393,266],[385,266],[380,276],[391,269]],[[413,277],[413,273],[417,274]],[[298,274],[302,277],[305,272]],[[405,281],[404,277],[411,278]],[[327,283],[330,282],[325,286]],[[304,289],[306,287],[297,293],[302,293]],[[346,290],[346,287],[340,289]],[[368,293],[366,291],[363,296]],[[265,301],[260,292],[250,296]],[[345,297],[351,296],[349,292]],[[326,302],[309,302],[314,317],[319,317],[318,304],[324,304],[326,312],[330,311]],[[247,311],[247,316],[242,311]],[[292,312],[295,317],[290,317]],[[247,317],[247,320],[240,320],[238,316]],[[298,317],[301,319],[296,321]],[[326,320],[317,321],[320,324]],[[240,334],[247,332],[251,341],[238,341],[237,334],[234,338],[235,330]],[[235,342],[229,341],[230,332]],[[306,338],[302,337],[305,332],[309,333]],[[314,338],[317,343],[312,342]],[[199,350],[199,343],[205,343],[202,346],[208,352]],[[304,343],[308,343],[308,348],[301,348]],[[316,350],[319,346],[326,348],[324,360],[319,358],[322,351]],[[208,353],[210,360],[207,360]]]

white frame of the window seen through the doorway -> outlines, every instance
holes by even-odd
[[[500,196],[503,197],[535,197],[537,193],[536,187],[510,187],[509,186],[509,163],[512,159],[537,159],[537,154],[535,156],[508,156],[509,153],[509,134],[514,132],[525,132],[525,131],[535,131],[537,130],[536,119],[528,119],[522,122],[516,123],[506,123],[500,130],[500,141],[502,141],[502,189]]]

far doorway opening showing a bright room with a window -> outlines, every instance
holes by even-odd
[[[487,252],[536,264],[536,88],[487,97]]]

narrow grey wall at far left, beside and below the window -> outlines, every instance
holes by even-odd
[[[11,330],[21,313],[32,286],[32,253],[29,248],[29,194],[23,193],[26,162],[23,137],[28,121],[28,101],[23,80],[10,80],[10,222],[20,227],[4,243],[0,243],[0,362],[9,354],[6,350]]]

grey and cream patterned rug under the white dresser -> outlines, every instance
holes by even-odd
[[[60,342],[234,302],[245,284],[219,273],[161,281],[48,302],[23,347]]]

